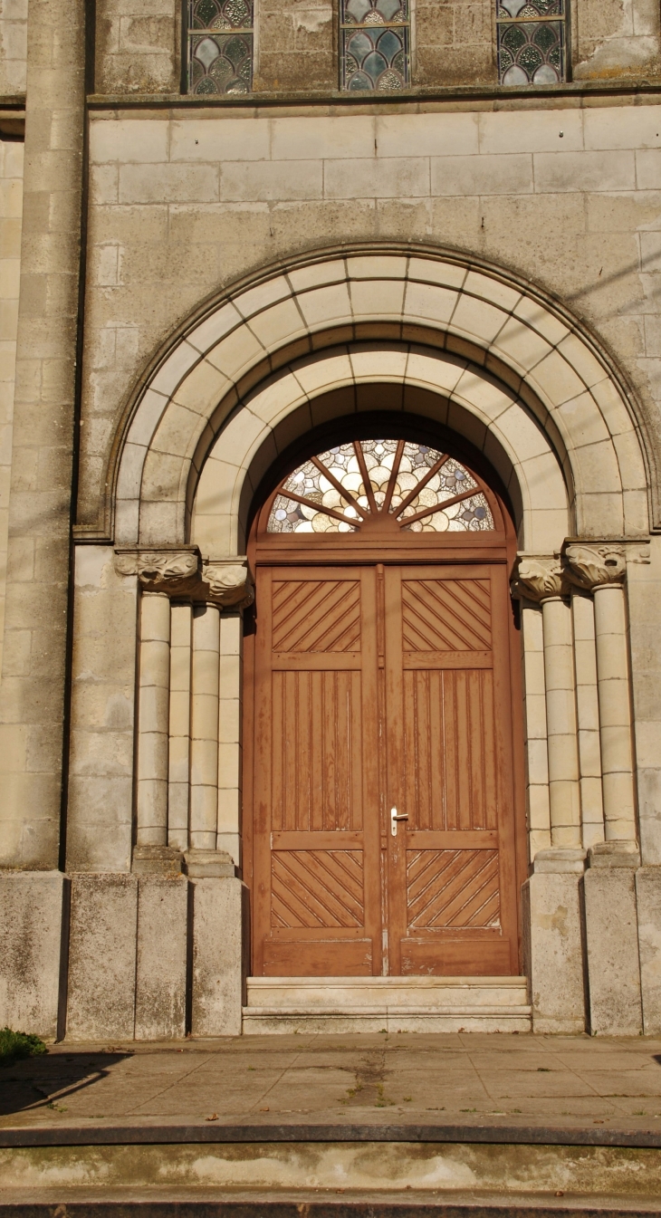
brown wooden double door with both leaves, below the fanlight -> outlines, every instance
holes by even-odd
[[[519,972],[504,564],[261,566],[253,973]]]

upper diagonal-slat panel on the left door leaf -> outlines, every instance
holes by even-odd
[[[273,585],[274,652],[359,652],[358,580],[281,580]]]

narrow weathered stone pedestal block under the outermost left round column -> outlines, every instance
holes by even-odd
[[[185,876],[140,876],[135,1039],[186,1034],[189,882]]]

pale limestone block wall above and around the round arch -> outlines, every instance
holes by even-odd
[[[651,104],[94,111],[80,525],[99,526],[158,346],[206,296],[338,240],[437,242],[539,284],[610,347],[661,445],[660,119]]]

